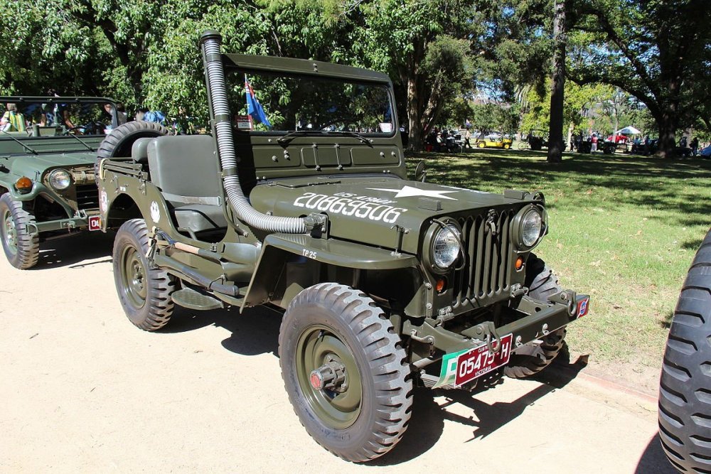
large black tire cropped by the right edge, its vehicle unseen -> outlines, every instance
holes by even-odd
[[[659,381],[659,438],[682,473],[711,473],[711,230],[676,303]]]

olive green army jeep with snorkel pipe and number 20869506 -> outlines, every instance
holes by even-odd
[[[407,181],[386,75],[220,44],[201,38],[212,136],[140,139],[99,163],[134,325],[159,329],[175,305],[284,311],[294,411],[356,462],[400,440],[414,384],[471,389],[551,362],[588,297],[531,253],[541,193]]]

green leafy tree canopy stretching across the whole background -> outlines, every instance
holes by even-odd
[[[0,27],[9,32],[0,43],[0,92],[107,95],[129,110],[146,106],[205,119],[198,38],[215,29],[223,33],[225,51],[387,72],[400,122],[415,148],[434,126],[461,126],[466,118],[515,129],[520,112],[522,129],[547,128],[540,122],[550,121],[546,90],[554,47],[560,45],[553,38],[552,5],[553,0],[10,2],[0,9]],[[565,76],[572,81],[566,82],[564,119],[556,129],[565,133],[571,124],[580,126],[582,111],[602,84],[644,105],[658,125],[663,152],[680,128],[711,133],[707,0],[565,0],[565,6]],[[474,109],[471,97],[482,93],[508,104],[496,113],[491,106]],[[597,103],[604,108],[608,99]]]

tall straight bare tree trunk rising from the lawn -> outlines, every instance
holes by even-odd
[[[565,87],[565,0],[553,4],[553,75],[550,87],[550,126],[548,129],[548,163],[563,160],[563,91]]]

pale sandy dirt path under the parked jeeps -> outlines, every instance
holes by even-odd
[[[346,463],[292,411],[279,314],[178,309],[145,333],[119,306],[111,245],[46,242],[29,271],[0,261],[0,472],[674,472],[653,397],[571,368],[474,393],[417,389],[400,444]]]

